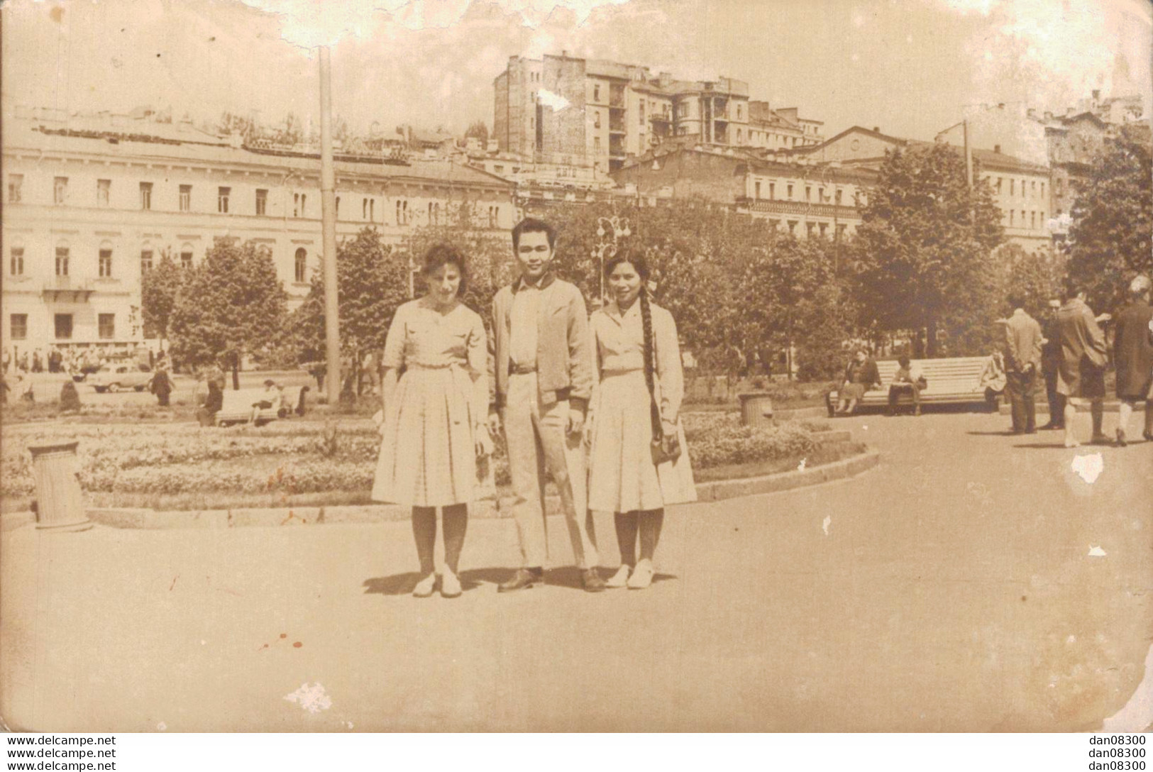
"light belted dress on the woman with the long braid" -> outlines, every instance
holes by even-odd
[[[588,506],[596,512],[660,509],[696,500],[678,417],[684,389],[677,330],[671,313],[657,305],[650,309],[658,403],[663,416],[677,421],[681,454],[676,461],[653,463],[651,398],[645,380],[640,303],[633,303],[624,315],[610,303],[590,319],[600,381],[593,395]]]

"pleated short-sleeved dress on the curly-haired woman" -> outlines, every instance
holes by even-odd
[[[383,364],[404,373],[385,406],[374,501],[445,507],[495,495],[474,442],[487,414],[487,351],[484,324],[466,305],[442,313],[421,298],[397,309]]]

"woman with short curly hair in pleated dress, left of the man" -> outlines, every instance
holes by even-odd
[[[488,342],[481,317],[460,302],[468,281],[465,256],[437,244],[424,257],[423,273],[428,294],[397,309],[384,346],[372,500],[413,508],[421,565],[413,595],[421,598],[432,595],[437,582],[432,555],[436,508],[442,508],[440,595],[455,598],[468,505],[495,493],[485,424]]]

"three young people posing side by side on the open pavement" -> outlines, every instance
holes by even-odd
[[[439,586],[444,597],[460,596],[468,506],[493,493],[491,456],[503,433],[522,565],[498,591],[544,581],[545,474],[583,589],[647,588],[665,506],[696,498],[679,418],[676,324],[651,301],[639,252],[605,263],[611,298],[590,318],[580,290],[556,275],[549,224],[521,220],[512,249],[520,275],[492,300],[491,345],[480,315],[460,300],[466,256],[446,244],[424,256],[427,293],[397,310],[382,357],[372,499],[412,507],[420,561],[413,593]],[[621,565],[608,581],[597,572],[594,510],[615,516]]]

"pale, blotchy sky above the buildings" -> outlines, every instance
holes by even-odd
[[[333,111],[354,130],[462,134],[491,127],[508,56],[567,51],[734,77],[826,136],[930,139],[984,105],[1064,113],[1093,89],[1148,112],[1151,20],[1146,0],[8,0],[0,108],[318,126],[329,44]]]

